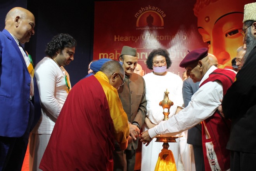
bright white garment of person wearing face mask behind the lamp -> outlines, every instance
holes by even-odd
[[[159,124],[164,118],[163,107],[159,106],[159,102],[163,100],[166,89],[170,92],[169,99],[174,103],[170,108],[169,118],[175,114],[178,106],[183,106],[183,81],[178,75],[168,72],[164,76],[157,76],[151,72],[143,76],[143,78],[146,83],[147,117],[152,123]],[[144,125],[143,131],[147,129]],[[178,167],[178,157],[180,155],[179,139],[176,139],[177,143],[169,143],[169,150],[173,152],[176,167]],[[163,143],[155,141],[156,138],[147,147],[142,144],[141,171],[154,171],[155,169],[158,155],[163,149]]]

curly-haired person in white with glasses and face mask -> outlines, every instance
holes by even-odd
[[[163,120],[163,107],[159,106],[159,102],[163,100],[166,89],[170,92],[168,94],[169,99],[174,103],[170,108],[169,117],[178,113],[183,106],[183,81],[180,76],[167,71],[172,64],[168,51],[161,48],[152,50],[146,63],[147,68],[153,71],[143,76],[146,84],[147,99],[147,117],[145,119],[143,131],[156,126]],[[182,135],[184,134],[182,133]],[[180,155],[180,140],[184,138],[185,137],[177,138],[176,141],[178,143],[169,143],[169,150],[173,152],[177,170],[178,158]],[[154,171],[156,167],[158,155],[163,149],[163,143],[155,141],[156,138],[155,140],[152,140],[147,147],[142,144],[141,171]],[[185,144],[187,144],[187,141]],[[189,157],[187,158],[189,161]]]

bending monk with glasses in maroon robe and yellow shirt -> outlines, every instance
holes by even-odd
[[[118,97],[124,71],[115,60],[73,86],[40,163],[43,171],[112,170],[114,140],[126,149],[129,126]],[[121,78],[123,77],[123,78]]]

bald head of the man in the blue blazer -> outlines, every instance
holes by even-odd
[[[14,7],[5,17],[5,29],[9,31],[20,43],[29,41],[35,34],[35,17],[27,9]]]

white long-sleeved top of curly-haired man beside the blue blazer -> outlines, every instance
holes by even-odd
[[[65,71],[65,74],[69,78],[64,67],[62,67],[62,71]],[[50,57],[44,57],[35,67],[35,77],[42,104],[42,118],[33,129],[33,133],[52,133],[55,121],[68,95],[65,77],[62,71]]]

